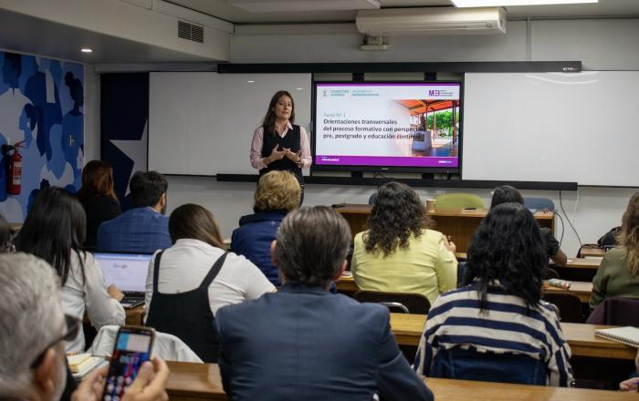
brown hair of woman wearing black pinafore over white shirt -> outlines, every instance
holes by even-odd
[[[186,203],[171,213],[169,234],[173,243],[181,239],[192,239],[225,249],[213,213],[194,203]]]

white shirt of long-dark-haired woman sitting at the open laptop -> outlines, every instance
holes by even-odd
[[[107,293],[100,265],[89,252],[85,252],[83,258],[84,277],[78,254],[71,252],[71,269],[68,272],[67,283],[62,286],[62,308],[65,314],[76,316],[81,320],[86,311],[91,324],[97,330],[107,324],[124,324],[126,320],[124,308]],[[80,326],[76,339],[66,344],[66,351],[80,353],[84,350],[84,331]]]

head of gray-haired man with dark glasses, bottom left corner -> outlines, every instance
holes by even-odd
[[[0,398],[58,400],[67,380],[66,319],[58,276],[26,253],[0,255]]]

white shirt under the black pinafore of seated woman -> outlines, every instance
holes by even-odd
[[[181,239],[162,253],[160,260],[160,293],[183,293],[200,286],[215,261],[222,256],[223,250],[206,242],[194,239]],[[152,308],[153,268],[155,255],[149,263],[146,278],[147,316]],[[255,264],[244,256],[228,252],[222,269],[208,287],[208,299],[211,312],[225,305],[242,303],[257,299],[264,293],[275,291],[275,286]]]

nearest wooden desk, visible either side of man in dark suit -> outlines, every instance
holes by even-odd
[[[168,362],[171,374],[166,390],[172,400],[228,399],[222,388],[220,371],[215,364]],[[472,399],[477,401],[624,401],[637,399],[636,393],[560,388],[548,386],[508,385],[467,380],[424,378],[437,401]]]

